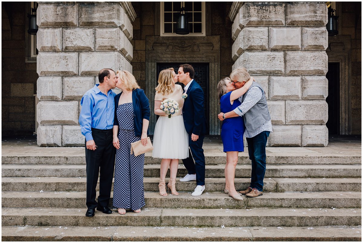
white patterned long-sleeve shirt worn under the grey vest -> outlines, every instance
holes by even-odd
[[[249,109],[251,109],[256,103],[262,98],[264,95],[264,92],[257,86],[252,87],[250,90],[248,90],[248,93],[246,94],[245,100],[242,102],[242,96],[238,98],[238,100],[241,102],[241,105],[238,106],[233,111],[238,116],[243,116]],[[268,122],[265,122],[262,126],[258,127],[254,131],[245,130],[244,136],[246,138],[252,138],[256,136],[257,134],[262,133],[262,131],[271,131],[272,132],[272,124],[271,120]]]

